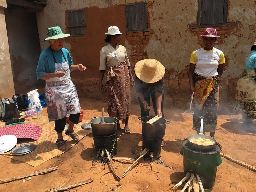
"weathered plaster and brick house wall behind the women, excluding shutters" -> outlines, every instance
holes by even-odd
[[[78,81],[77,87],[81,87],[78,88],[80,89],[79,94],[95,98],[94,93],[99,76],[99,52],[100,48],[104,46],[104,33],[110,25],[117,25],[124,32],[123,5],[135,2],[139,1],[52,0],[48,2],[43,11],[37,13],[39,36],[40,40],[43,40],[48,27],[59,25],[63,30],[66,29],[67,10],[85,10],[85,36],[67,39],[67,45],[74,61],[88,66],[85,75],[75,72],[75,80]],[[189,28],[190,24],[197,22],[198,4],[197,1],[180,0],[147,0],[146,2],[148,4],[148,28],[151,31],[146,34],[124,33],[121,44],[125,45],[132,66],[138,60],[147,57],[157,59],[165,66],[165,90],[171,95],[168,101],[174,101],[172,103],[179,107],[184,100],[188,99],[188,94],[182,94],[184,95],[182,98],[177,95],[188,92],[190,54],[201,47],[201,39],[198,35],[204,28]],[[237,22],[237,25],[215,26],[218,34],[221,35],[216,47],[224,52],[227,60],[225,71],[221,77],[222,98],[224,96],[226,98],[228,95],[233,97],[235,82],[243,71],[245,58],[250,53],[250,43],[256,37],[254,35],[255,8],[255,1],[252,0],[229,1],[228,22]],[[41,49],[46,46],[48,46],[47,43],[41,43]]]

